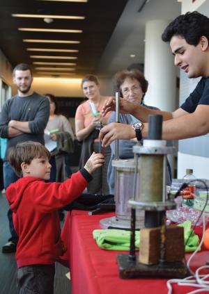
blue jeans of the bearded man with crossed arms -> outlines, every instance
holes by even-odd
[[[19,177],[17,177],[17,174],[15,174],[13,168],[10,167],[10,163],[8,161],[3,162],[3,183],[4,183],[4,188],[8,188],[10,186],[10,183],[14,183],[17,181]],[[18,236],[15,232],[14,229],[14,224],[13,224],[13,211],[10,209],[8,210],[7,213],[8,216],[8,221],[9,221],[9,227],[10,227],[10,233],[11,233],[11,238],[9,238],[10,241],[13,241],[17,243],[18,241]]]

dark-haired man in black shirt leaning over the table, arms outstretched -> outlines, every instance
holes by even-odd
[[[156,111],[135,106],[126,99],[120,99],[121,113],[130,113],[141,122],[141,135],[148,136],[148,115],[162,115],[162,138],[180,140],[205,135],[209,132],[209,19],[194,11],[176,17],[162,34],[164,42],[170,42],[174,63],[189,79],[202,77],[185,103],[173,113]],[[115,110],[115,100],[111,97],[102,113]],[[139,129],[139,128],[138,128]],[[139,132],[139,130],[137,131]],[[100,131],[104,146],[116,139],[136,137],[134,126],[113,122]]]

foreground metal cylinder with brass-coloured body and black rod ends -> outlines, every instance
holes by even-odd
[[[139,193],[135,193],[129,205],[145,211],[145,227],[160,226],[161,212],[176,206],[167,199],[166,190],[167,154],[172,154],[174,148],[167,147],[161,138],[162,115],[150,115],[148,139],[143,146],[133,147],[135,156],[141,158],[141,173]]]

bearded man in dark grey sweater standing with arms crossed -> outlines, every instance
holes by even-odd
[[[18,179],[7,161],[8,149],[17,145],[17,142],[28,140],[44,145],[44,129],[49,119],[49,100],[31,90],[33,74],[29,65],[20,63],[14,68],[13,82],[17,86],[17,95],[3,104],[0,117],[0,136],[8,139],[3,162],[4,188]],[[18,241],[10,210],[8,220],[11,237],[2,247],[3,253],[15,252]]]

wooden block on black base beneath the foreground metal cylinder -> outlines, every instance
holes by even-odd
[[[146,265],[159,263],[160,259],[160,227],[141,229],[139,262]],[[184,229],[177,226],[166,227],[166,260],[181,261],[185,255]]]

